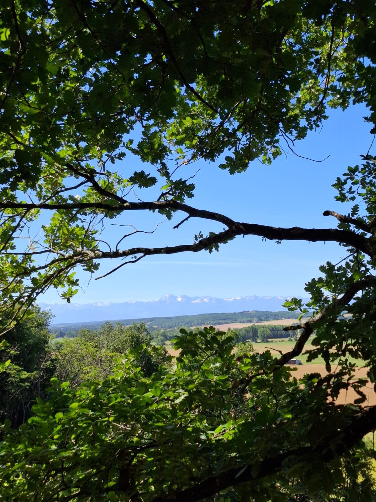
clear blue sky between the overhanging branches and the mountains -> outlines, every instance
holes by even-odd
[[[366,154],[372,137],[370,125],[362,117],[364,107],[351,107],[345,112],[330,110],[330,118],[321,131],[308,134],[296,143],[295,151],[306,157],[323,159],[321,163],[300,159],[288,152],[271,166],[253,162],[248,171],[230,176],[216,163],[201,162],[184,166],[181,176],[197,174],[195,198],[188,201],[198,208],[224,213],[238,221],[273,226],[335,227],[336,220],[322,216],[326,209],[347,213],[349,204],[334,201],[335,190],[331,184],[349,165],[359,163],[360,154]],[[282,147],[285,147],[281,143]],[[116,166],[125,177],[134,170],[153,172],[151,166],[127,155],[123,164]],[[152,200],[149,191],[137,192],[143,200]],[[173,224],[184,215],[175,215],[173,223],[163,222],[153,235],[137,234],[124,242],[124,247],[134,245],[157,246],[192,243],[195,233],[206,234],[221,230],[215,222],[191,219],[172,230]],[[122,220],[112,221],[134,224],[139,229],[151,230],[163,220],[160,215],[147,212],[126,214]],[[121,236],[121,227],[108,227],[108,238]],[[87,285],[73,299],[75,303],[122,302],[127,300],[156,300],[167,293],[174,295],[219,298],[259,295],[306,296],[304,284],[319,275],[318,267],[326,261],[338,261],[344,248],[335,243],[308,243],[262,241],[261,237],[237,237],[220,246],[219,253],[184,253],[172,256],[147,257],[135,265],[127,265],[107,278]],[[102,263],[99,274],[121,262]],[[61,303],[58,294],[51,290],[39,298],[47,303]]]

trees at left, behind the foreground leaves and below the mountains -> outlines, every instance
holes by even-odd
[[[146,351],[135,354],[134,361],[145,374],[168,363],[167,352],[152,347],[143,323],[107,323],[96,332],[82,329],[74,340],[51,343],[50,313],[35,307],[33,314],[8,332],[0,346],[0,422],[7,427],[28,422],[35,405],[50,396],[52,378],[69,382],[72,389],[90,379],[104,380],[122,354],[143,345]],[[0,429],[0,439],[3,433]]]

